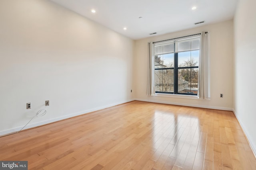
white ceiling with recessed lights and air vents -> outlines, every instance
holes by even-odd
[[[52,0],[132,39],[230,20],[238,0]],[[196,6],[196,10],[191,8]],[[96,13],[91,10],[95,9]],[[139,17],[142,17],[139,19]],[[205,21],[198,25],[196,22]],[[127,27],[127,30],[123,28]]]

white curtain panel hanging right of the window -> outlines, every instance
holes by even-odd
[[[199,57],[198,98],[210,99],[210,33],[202,32]]]

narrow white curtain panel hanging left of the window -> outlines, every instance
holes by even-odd
[[[147,95],[155,96],[155,80],[154,80],[154,44],[148,43],[148,86]]]

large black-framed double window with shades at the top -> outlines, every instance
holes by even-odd
[[[156,93],[198,94],[200,35],[154,43]]]

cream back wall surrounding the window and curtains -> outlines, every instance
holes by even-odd
[[[147,96],[147,50],[148,42],[161,41],[210,31],[211,43],[211,100],[184,99],[174,95],[169,97]],[[167,104],[196,106],[214,109],[232,110],[233,108],[233,21],[205,25],[193,29],[159,35],[135,41],[134,67],[136,76],[135,98]],[[220,98],[220,93],[224,98]]]

